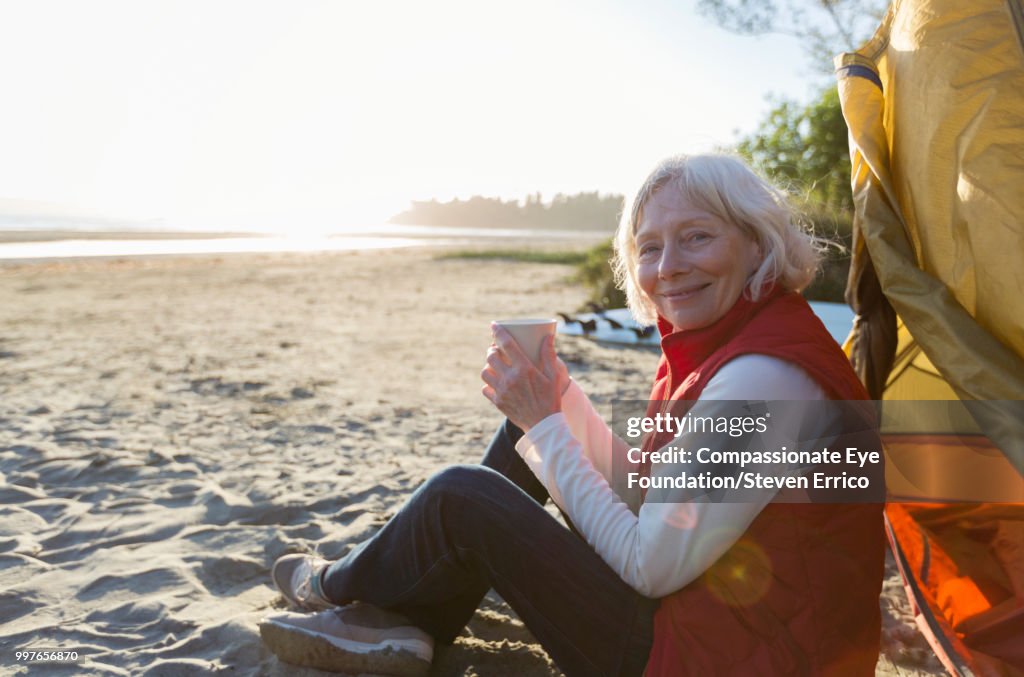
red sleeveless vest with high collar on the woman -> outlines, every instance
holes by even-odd
[[[866,399],[799,294],[743,298],[712,327],[664,320],[651,399],[696,399],[725,363],[759,353],[799,366],[833,399]],[[885,567],[882,505],[769,504],[698,579],[662,599],[649,677],[873,675]]]

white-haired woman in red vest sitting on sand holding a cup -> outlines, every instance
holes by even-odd
[[[662,333],[650,399],[715,414],[727,400],[866,398],[799,295],[817,256],[784,196],[742,162],[659,164],[625,210],[614,259],[634,315]],[[655,500],[624,488],[616,469],[653,479],[680,468],[624,460],[629,446],[568,377],[553,338],[538,369],[493,331],[483,394],[507,420],[482,463],[431,477],[340,560],[280,559],[284,596],[327,610],[264,620],[279,657],[422,671],[432,642],[453,641],[494,588],[567,675],[873,674],[879,505],[792,504],[771,491]],[[807,438],[819,423],[798,419],[784,434]],[[542,507],[549,498],[570,528]]]

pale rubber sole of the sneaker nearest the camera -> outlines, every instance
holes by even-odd
[[[381,647],[340,637],[328,638],[318,633],[264,621],[259,626],[260,638],[281,661],[306,668],[350,674],[424,677],[430,672],[430,662],[398,642]],[[402,640],[430,647],[417,640]]]

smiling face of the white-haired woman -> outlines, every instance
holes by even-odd
[[[761,264],[753,239],[671,186],[644,205],[635,240],[640,289],[677,331],[717,322]]]

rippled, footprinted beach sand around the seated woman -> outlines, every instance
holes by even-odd
[[[338,557],[501,416],[478,377],[499,315],[575,310],[562,265],[427,248],[0,264],[0,657],[47,674],[319,674],[257,624],[274,559]],[[654,351],[561,337],[595,404]],[[879,674],[941,674],[890,563]],[[494,593],[435,675],[558,674]]]

